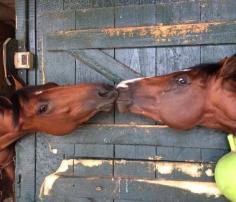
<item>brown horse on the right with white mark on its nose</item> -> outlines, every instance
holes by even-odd
[[[118,84],[120,112],[176,129],[205,126],[236,132],[236,54],[164,76]]]

